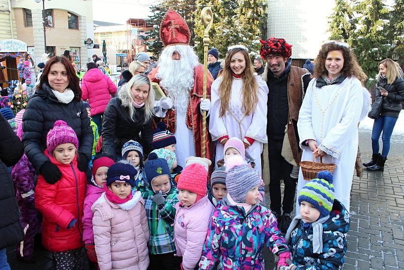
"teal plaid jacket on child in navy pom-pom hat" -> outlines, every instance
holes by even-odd
[[[174,205],[178,202],[177,189],[171,186],[167,194],[163,194],[166,203],[157,206],[151,199],[155,194],[146,188],[142,192],[144,209],[146,210],[148,228],[150,230],[149,247],[151,254],[164,254],[176,251],[174,244]]]

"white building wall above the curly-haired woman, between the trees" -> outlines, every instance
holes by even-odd
[[[291,44],[292,59],[314,59],[328,40],[334,6],[333,0],[268,0],[268,36]]]

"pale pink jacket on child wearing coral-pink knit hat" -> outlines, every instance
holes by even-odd
[[[209,221],[215,210],[208,195],[191,205],[189,208],[175,205],[174,241],[177,256],[182,256],[184,270],[194,269],[200,260]]]

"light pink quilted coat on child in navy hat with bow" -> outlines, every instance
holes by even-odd
[[[120,205],[103,193],[91,210],[99,269],[146,270],[149,231],[141,193]]]

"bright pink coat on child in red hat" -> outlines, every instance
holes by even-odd
[[[84,244],[94,243],[94,234],[92,233],[92,217],[91,206],[94,204],[104,189],[94,187],[93,185],[87,185],[84,198],[84,215],[83,215],[83,242]]]

